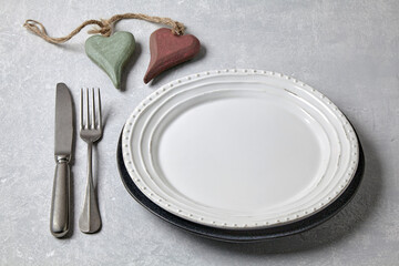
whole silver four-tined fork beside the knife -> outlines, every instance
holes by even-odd
[[[82,214],[79,218],[79,227],[83,233],[95,233],[101,228],[101,216],[94,192],[92,174],[92,147],[93,143],[102,136],[101,121],[101,98],[100,89],[98,91],[96,104],[94,103],[94,89],[91,90],[91,112],[89,111],[89,89],[85,90],[85,103],[83,103],[84,92],[81,89],[80,95],[80,136],[88,143],[88,184]],[[85,106],[84,106],[85,105]],[[83,113],[85,109],[85,120]],[[91,113],[91,115],[90,115]],[[91,119],[90,119],[91,116]]]

